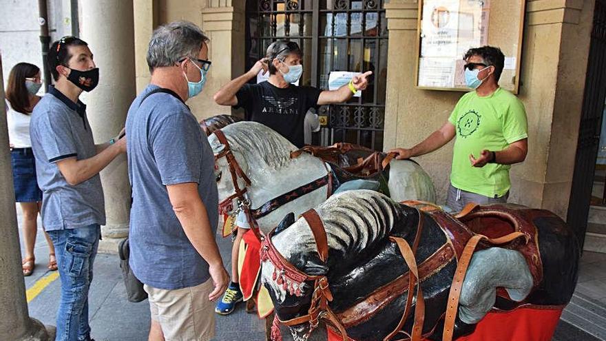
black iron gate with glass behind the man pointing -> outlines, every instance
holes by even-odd
[[[362,96],[323,105],[327,118],[314,144],[350,142],[383,149],[387,78],[387,21],[384,0],[248,0],[247,70],[276,39],[303,50],[302,85],[328,89],[331,71],[373,71]]]

